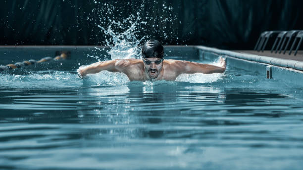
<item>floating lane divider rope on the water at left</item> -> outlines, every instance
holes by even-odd
[[[23,61],[23,62],[16,62],[15,64],[7,64],[5,66],[0,66],[0,71],[5,71],[5,70],[13,70],[16,68],[21,68],[29,65],[34,65],[34,64],[39,64],[43,62],[49,62],[51,60],[65,60],[70,58],[70,51],[56,51],[55,52],[55,57],[44,57],[41,58],[39,61],[36,60],[28,60],[28,61]]]

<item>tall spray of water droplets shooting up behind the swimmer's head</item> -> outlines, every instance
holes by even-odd
[[[101,29],[96,33],[96,36],[100,37],[100,44],[110,47],[107,50],[108,55],[103,60],[140,58],[140,46],[148,39],[165,42],[169,39],[170,42],[176,40],[178,28],[171,24],[179,21],[170,3],[158,4],[156,0],[142,0],[125,2],[122,7],[117,1],[94,0],[94,3],[95,8],[88,14],[87,19]],[[154,12],[159,15],[153,15]],[[169,28],[169,31],[165,32],[166,28]],[[88,56],[102,60],[102,57],[97,55]]]

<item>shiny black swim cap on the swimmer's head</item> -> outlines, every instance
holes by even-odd
[[[143,58],[163,58],[164,48],[161,42],[149,40],[142,46],[141,55]]]

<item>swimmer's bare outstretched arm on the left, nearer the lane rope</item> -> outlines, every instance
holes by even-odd
[[[77,72],[80,78],[83,78],[88,74],[99,73],[103,70],[107,70],[109,72],[122,72],[121,63],[123,62],[124,61],[122,60],[101,61],[91,64],[85,68],[78,69]]]

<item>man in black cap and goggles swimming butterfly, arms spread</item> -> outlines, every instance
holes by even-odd
[[[164,60],[163,45],[156,40],[144,43],[141,50],[141,59],[116,59],[97,62],[85,68],[78,69],[80,78],[88,74],[122,72],[130,81],[166,80],[175,81],[180,74],[193,73],[223,73],[226,69],[225,60],[220,58],[221,67],[181,60]]]

